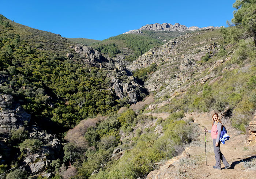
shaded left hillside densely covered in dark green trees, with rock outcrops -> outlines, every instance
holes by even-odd
[[[10,168],[42,174],[53,160],[63,160],[68,129],[147,94],[97,50],[2,15],[0,47],[1,174]]]

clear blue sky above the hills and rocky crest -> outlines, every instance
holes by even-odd
[[[67,38],[103,40],[153,23],[225,26],[235,0],[1,0],[0,14]]]

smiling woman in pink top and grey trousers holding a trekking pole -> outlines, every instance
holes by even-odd
[[[213,166],[213,168],[221,170],[221,160],[225,165],[225,169],[230,168],[231,165],[227,163],[227,160],[225,159],[224,155],[221,153],[219,149],[219,145],[220,145],[219,137],[221,135],[222,122],[221,120],[219,120],[218,113],[214,113],[212,115],[211,123],[212,123],[211,130],[207,130],[206,128],[204,128],[204,131],[211,133],[211,137],[213,141],[213,148],[214,148],[215,160],[216,160],[216,164]]]

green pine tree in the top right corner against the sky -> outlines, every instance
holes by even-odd
[[[252,37],[256,46],[256,0],[236,0],[233,7],[234,18],[231,22],[242,29],[247,37]]]

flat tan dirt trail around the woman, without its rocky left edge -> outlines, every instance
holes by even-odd
[[[253,147],[245,146],[245,134],[241,134],[230,125],[225,125],[230,140],[226,144],[221,144],[221,152],[226,160],[231,165],[231,169],[224,169],[221,162],[222,170],[213,169],[215,165],[215,157],[213,151],[212,138],[209,133],[206,134],[207,139],[207,166],[205,163],[205,145],[204,145],[204,132],[203,128],[211,129],[211,115],[210,113],[191,113],[187,114],[185,118],[192,117],[195,123],[199,124],[202,131],[199,132],[200,146],[191,146],[187,152],[191,157],[199,160],[199,165],[194,170],[186,170],[188,178],[233,178],[233,179],[255,179],[256,170],[250,171],[243,167],[243,161],[248,160],[250,157],[256,157],[256,150]],[[202,142],[203,141],[203,142]]]

